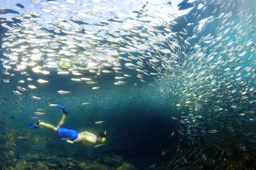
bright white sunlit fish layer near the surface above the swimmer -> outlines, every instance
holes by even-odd
[[[28,76],[30,69],[36,74],[49,75],[53,68],[58,68],[59,75],[72,74],[75,77],[72,81],[83,81],[86,79],[83,76],[96,80],[101,74],[123,79],[130,77],[126,72],[133,71],[139,82],[145,82],[147,76],[160,78],[162,69],[180,59],[174,54],[180,46],[171,26],[164,20],[158,21],[160,25],[155,24],[160,11],[146,12],[150,8],[148,3],[140,4],[143,9],[134,10],[127,17],[125,10],[88,2],[75,11],[72,9],[75,2],[68,1],[67,5],[32,2],[39,3],[41,11],[25,9],[16,17],[17,26],[11,27],[3,38],[6,75],[10,75],[11,69]],[[130,2],[130,5],[138,4]],[[113,11],[116,16],[110,15]],[[158,29],[159,26],[162,27]],[[159,47],[159,43],[168,46]],[[126,82],[114,79],[115,85]]]

